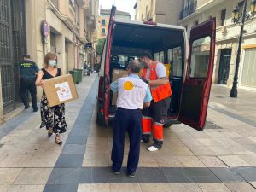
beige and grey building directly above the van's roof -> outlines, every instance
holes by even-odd
[[[177,25],[183,1],[137,0],[135,20],[153,20],[158,23]]]

